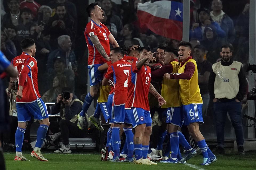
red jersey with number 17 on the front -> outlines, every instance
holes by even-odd
[[[148,94],[151,81],[151,69],[149,66],[142,66],[141,69],[138,69],[136,66],[137,62],[131,64],[125,109],[138,107],[149,111]]]

